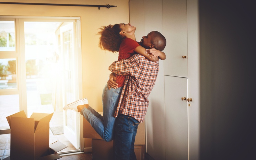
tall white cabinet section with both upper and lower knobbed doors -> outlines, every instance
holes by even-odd
[[[186,0],[163,0],[165,159],[188,159],[188,38]],[[181,98],[186,97],[186,100]]]

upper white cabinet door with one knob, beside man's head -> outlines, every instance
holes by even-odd
[[[163,0],[164,75],[188,77],[187,3]],[[183,57],[186,56],[186,57]]]

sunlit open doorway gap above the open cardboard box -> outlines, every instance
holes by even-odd
[[[25,64],[27,88],[27,114],[53,113],[56,82],[58,78],[58,54],[56,53],[56,28],[60,22],[24,22]]]

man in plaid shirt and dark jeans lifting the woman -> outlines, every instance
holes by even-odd
[[[156,48],[162,51],[166,46],[166,39],[157,32],[152,31],[143,36],[140,45],[146,49]],[[137,128],[144,121],[149,100],[148,96],[155,85],[159,71],[158,61],[152,62],[145,57],[135,54],[129,59],[113,62],[109,68],[118,75],[127,75],[125,85],[115,112],[115,159],[135,159],[134,142]],[[108,84],[113,87],[115,83],[110,77]]]

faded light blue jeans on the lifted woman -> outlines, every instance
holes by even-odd
[[[114,139],[115,121],[114,113],[116,111],[119,98],[123,87],[117,89],[108,89],[107,85],[102,92],[103,117],[92,107],[85,107],[81,114],[90,122],[94,130],[102,137],[103,140],[109,142]]]

